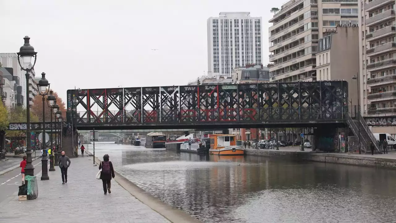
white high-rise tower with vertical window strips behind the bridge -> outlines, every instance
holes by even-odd
[[[208,19],[208,76],[230,76],[232,69],[261,64],[261,17],[221,12]]]

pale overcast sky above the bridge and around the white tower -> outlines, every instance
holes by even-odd
[[[207,23],[219,12],[263,17],[268,63],[269,0],[0,0],[0,52],[23,37],[38,52],[36,77],[66,90],[186,85],[207,71]],[[159,49],[153,51],[151,49]]]

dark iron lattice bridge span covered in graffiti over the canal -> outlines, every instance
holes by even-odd
[[[346,81],[67,91],[79,130],[311,127],[345,123]]]

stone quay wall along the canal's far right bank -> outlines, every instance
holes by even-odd
[[[339,163],[346,165],[358,165],[366,167],[381,167],[396,169],[396,152],[388,154],[348,154],[315,152],[310,149],[300,151],[298,147],[279,148],[279,150],[246,149],[249,156],[267,156],[291,160],[315,161],[322,163]]]

